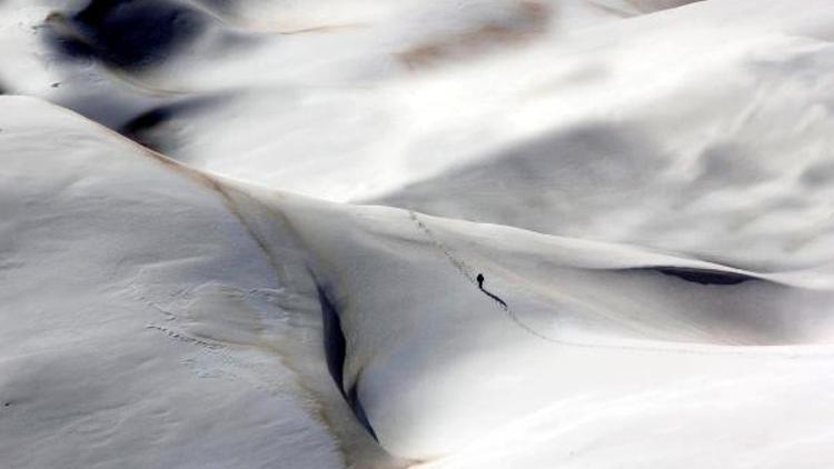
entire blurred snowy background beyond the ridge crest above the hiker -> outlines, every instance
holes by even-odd
[[[831,261],[830,2],[679,3],[7,1],[0,81],[316,198]]]

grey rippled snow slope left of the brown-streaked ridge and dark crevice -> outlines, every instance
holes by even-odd
[[[342,467],[340,413],[278,352],[322,359],[318,305],[222,197],[66,110],[0,108],[0,466]]]

